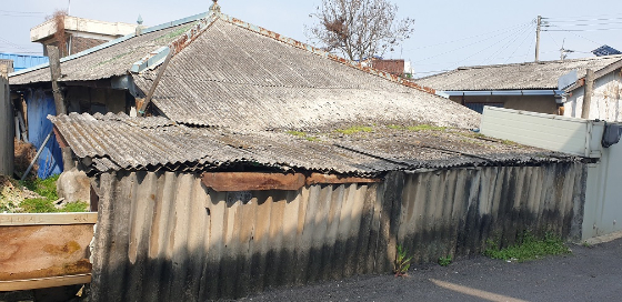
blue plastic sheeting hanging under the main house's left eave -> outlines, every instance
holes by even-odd
[[[28,138],[39,150],[46,137],[52,131],[52,122],[48,120],[48,114],[57,114],[54,98],[41,90],[34,90],[27,93],[26,103],[28,105]],[[39,164],[37,175],[40,179],[62,172],[62,152],[53,133],[43,147],[37,163]]]

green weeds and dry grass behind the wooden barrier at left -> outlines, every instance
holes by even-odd
[[[10,213],[54,213],[54,212],[87,212],[88,203],[83,201],[69,202],[57,207],[57,181],[59,175],[46,180],[32,179],[26,181],[4,181],[0,193],[0,212]],[[8,188],[8,187],[11,188]],[[23,190],[26,189],[26,190]]]

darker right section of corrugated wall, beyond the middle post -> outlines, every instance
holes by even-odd
[[[398,242],[418,263],[481,253],[530,230],[580,239],[582,164],[452,169],[408,174]]]

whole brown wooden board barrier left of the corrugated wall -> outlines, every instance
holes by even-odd
[[[97,213],[0,214],[0,291],[89,282],[96,222]]]

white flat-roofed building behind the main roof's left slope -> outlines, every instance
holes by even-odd
[[[59,47],[61,57],[71,56],[137,30],[137,24],[130,23],[106,22],[63,14],[57,18],[30,29],[30,41],[41,43],[44,54],[48,53],[46,46]]]

